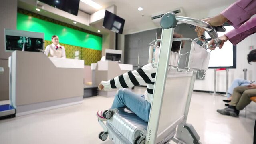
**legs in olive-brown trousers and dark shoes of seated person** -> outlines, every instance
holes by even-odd
[[[250,97],[256,96],[256,84],[250,84],[249,86],[238,86],[234,88],[232,100],[228,108],[217,110],[220,114],[228,116],[238,116],[239,111],[243,110],[248,104],[250,104]]]

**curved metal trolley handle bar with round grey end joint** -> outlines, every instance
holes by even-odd
[[[206,32],[208,32],[210,37],[214,40],[214,43],[216,44],[216,46],[219,46],[221,44],[221,40],[218,38],[218,34],[215,28],[210,24],[208,24],[207,22],[204,22],[199,19],[189,18],[185,16],[177,16],[173,12],[167,12],[161,18],[160,25],[164,29],[175,28],[175,26],[177,26],[177,22],[192,24],[200,28],[204,28]]]

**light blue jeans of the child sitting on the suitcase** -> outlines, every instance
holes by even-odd
[[[144,95],[135,94],[134,92],[125,88],[119,89],[115,95],[111,109],[125,107],[129,108],[145,122],[149,121],[151,104],[145,100]]]

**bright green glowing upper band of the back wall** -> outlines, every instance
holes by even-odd
[[[25,14],[17,14],[17,29],[43,32],[45,40],[51,40],[53,35],[57,35],[60,38],[60,43],[94,50],[102,50],[102,38],[99,36],[54,24]]]

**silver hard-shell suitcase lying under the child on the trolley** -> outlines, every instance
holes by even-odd
[[[127,108],[113,111],[113,117],[106,124],[109,138],[115,144],[145,144],[147,122]]]

